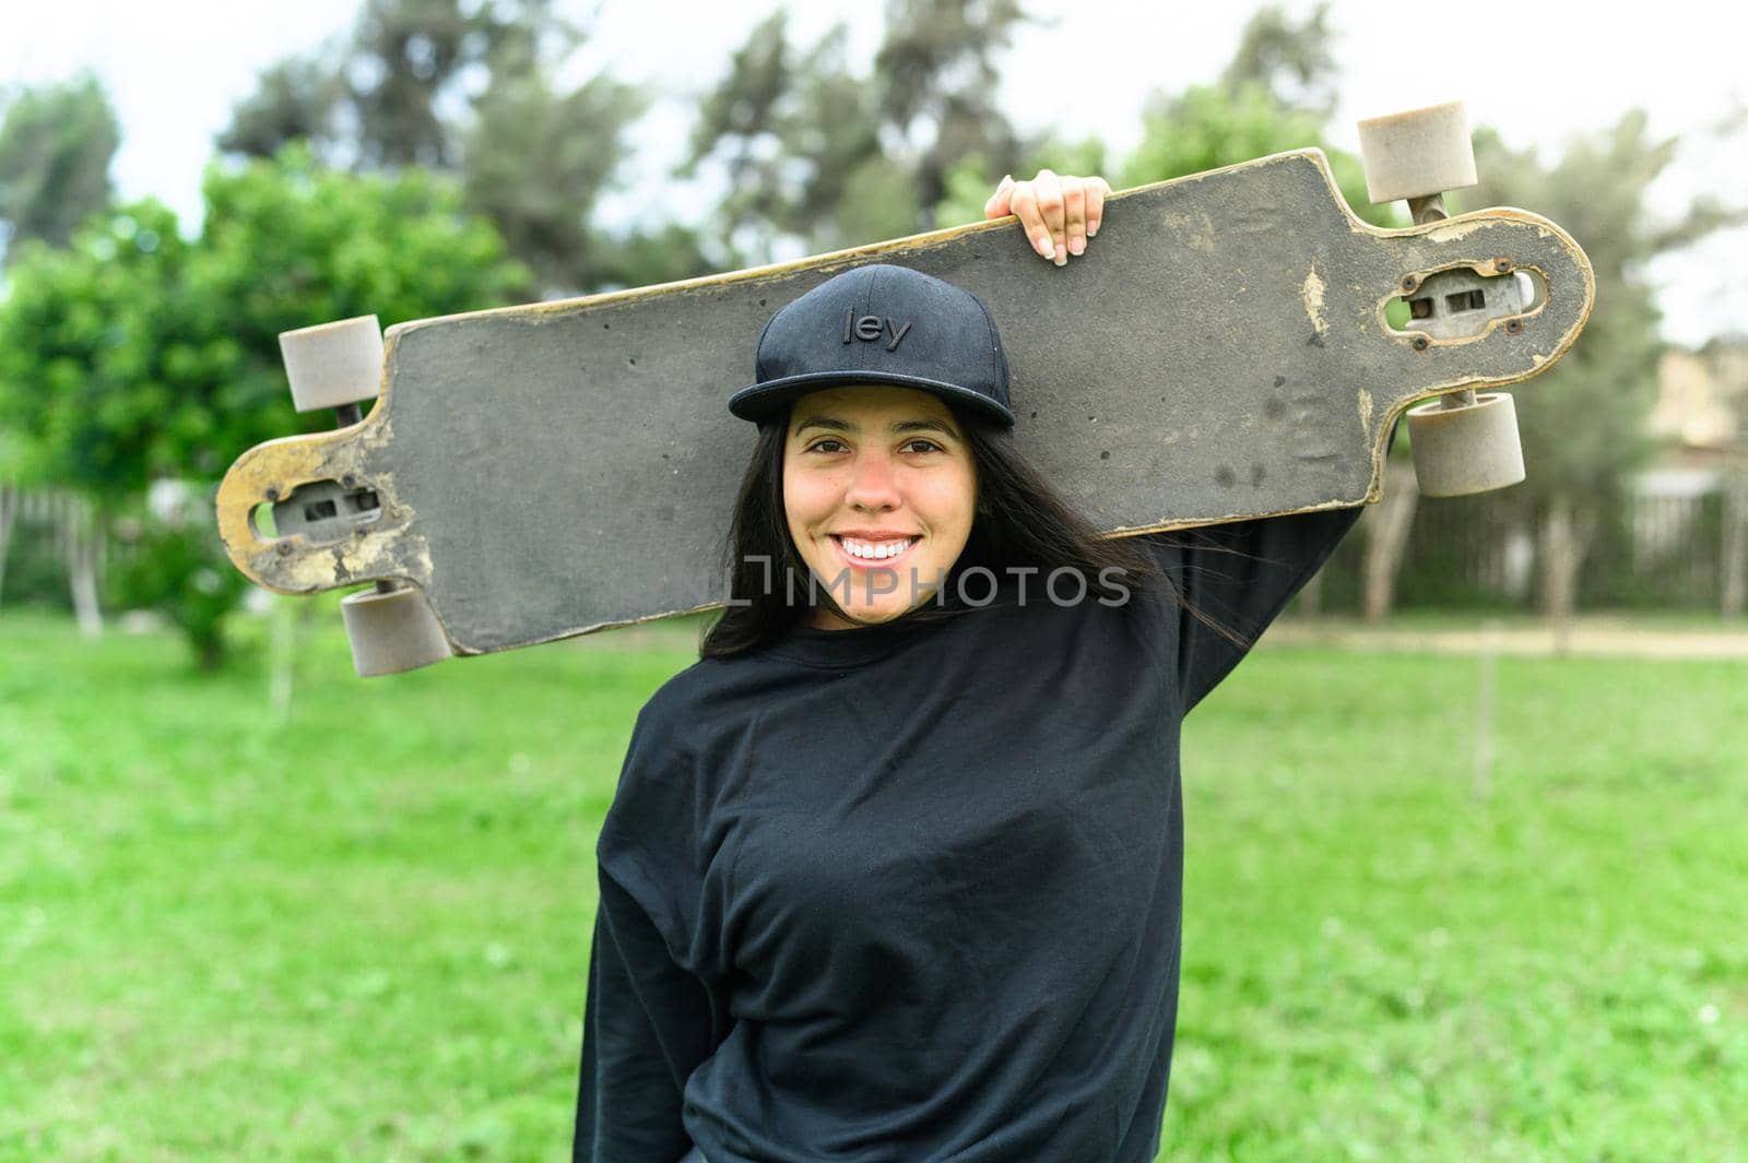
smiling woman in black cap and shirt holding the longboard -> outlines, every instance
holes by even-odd
[[[1061,264],[1106,189],[988,213]],[[575,1158],[1152,1160],[1178,725],[1358,510],[1098,538],[1014,452],[989,313],[898,267],[778,311],[757,381],[736,604],[601,829]]]

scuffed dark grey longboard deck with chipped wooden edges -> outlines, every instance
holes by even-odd
[[[725,400],[750,382],[773,311],[867,262],[989,306],[1017,447],[1112,533],[1376,499],[1404,409],[1538,374],[1594,302],[1584,251],[1545,218],[1486,210],[1379,231],[1320,152],[1278,154],[1113,196],[1087,255],[1061,269],[1009,220],[402,323],[362,424],[232,466],[218,496],[232,561],[288,594],[411,582],[458,653],[717,604],[753,445]],[[1384,321],[1404,276],[1509,269],[1545,285],[1510,328],[1428,341]],[[250,522],[269,498],[276,538]]]

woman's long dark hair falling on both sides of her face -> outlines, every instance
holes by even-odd
[[[1058,496],[1014,447],[1010,430],[979,421],[960,409],[953,409],[953,414],[977,466],[977,515],[965,548],[946,576],[940,601],[930,599],[904,613],[907,623],[974,613],[979,606],[960,601],[958,582],[975,568],[1002,578],[1014,568],[1030,566],[1049,573],[1066,566],[1086,578],[1087,601],[1120,601],[1124,588],[1159,587],[1183,604],[1176,582],[1140,547],[1126,538],[1099,534],[1092,522]],[[759,442],[741,477],[724,547],[722,566],[734,601],[713,623],[704,625],[699,639],[703,658],[729,658],[774,643],[815,609],[813,601],[832,613],[843,613],[829,587],[788,583],[794,578],[806,582],[809,569],[788,533],[783,505],[787,430],[787,410],[759,424]],[[1113,585],[1112,575],[1120,582]],[[1190,613],[1234,643],[1250,644],[1199,611]]]

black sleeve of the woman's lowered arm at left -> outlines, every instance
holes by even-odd
[[[685,1154],[685,1083],[729,1029],[725,990],[697,964],[710,919],[690,763],[649,726],[640,716],[596,845],[575,1163]]]

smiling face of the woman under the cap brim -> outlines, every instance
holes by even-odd
[[[914,388],[829,388],[795,400],[783,442],[788,533],[851,622],[888,622],[928,601],[977,510],[977,470],[953,409]],[[822,604],[823,606],[823,604]]]

